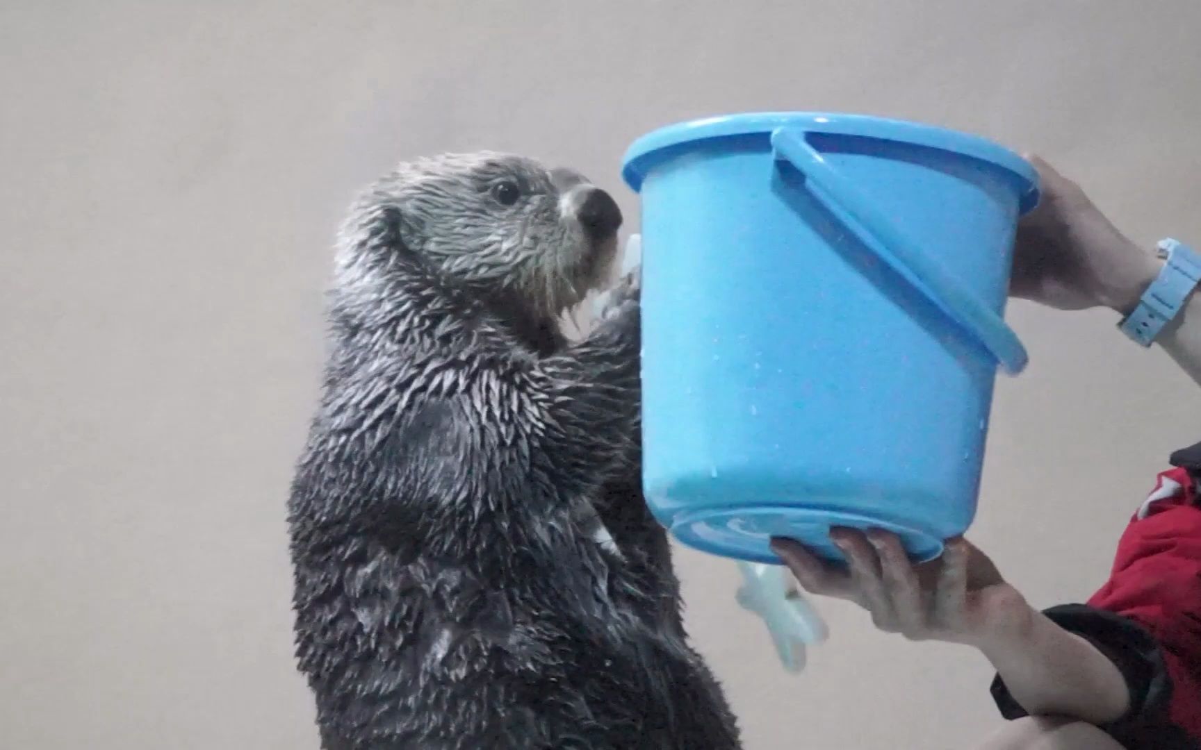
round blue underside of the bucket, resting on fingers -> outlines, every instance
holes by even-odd
[[[681,514],[671,524],[671,534],[701,552],[773,565],[782,560],[771,551],[771,538],[784,536],[826,559],[842,562],[842,552],[830,541],[831,527],[892,532],[915,563],[943,553],[943,540],[928,532],[856,514],[806,508],[711,508]]]

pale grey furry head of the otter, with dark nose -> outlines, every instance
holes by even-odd
[[[512,319],[544,325],[602,284],[616,254],[621,210],[570,169],[507,154],[448,154],[401,164],[368,192],[358,215],[395,209],[404,250]],[[358,227],[362,227],[359,224]],[[347,232],[358,230],[354,218]],[[392,265],[343,238],[342,282],[387,292]]]

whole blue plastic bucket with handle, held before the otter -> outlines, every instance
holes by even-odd
[[[635,142],[644,487],[682,542],[830,558],[831,526],[937,557],[976,506],[1017,217],[1038,175],[988,140],[776,113]]]

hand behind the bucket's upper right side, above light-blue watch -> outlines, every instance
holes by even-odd
[[[1042,199],[1017,226],[1010,294],[1060,310],[1133,311],[1159,272],[1155,257],[1118,232],[1078,185],[1038,156],[1027,160]]]

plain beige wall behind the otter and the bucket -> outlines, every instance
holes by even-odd
[[[283,500],[334,223],[390,162],[496,148],[611,186],[641,132],[765,108],[1041,151],[1131,235],[1201,242],[1193,0],[0,2],[0,748],[315,749]],[[1077,599],[1196,389],[1103,313],[1015,305],[973,529]],[[997,720],[968,652],[872,631],[800,678],[679,554],[751,749],[952,749]]]

